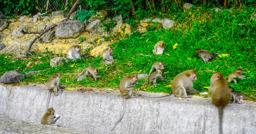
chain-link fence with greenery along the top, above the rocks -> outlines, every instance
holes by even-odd
[[[52,13],[53,11],[70,11],[76,0],[40,0],[36,4],[36,10],[31,11],[31,14],[37,13]],[[87,11],[107,11],[110,17],[114,17],[116,12],[114,0],[80,0],[79,6],[74,10],[84,9]],[[26,10],[26,9],[24,9]]]

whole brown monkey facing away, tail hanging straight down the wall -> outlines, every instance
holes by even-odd
[[[231,92],[229,89],[229,84],[221,72],[214,72],[211,76],[209,92],[211,93],[211,102],[213,105],[218,107],[219,134],[222,134],[223,108],[229,104]]]

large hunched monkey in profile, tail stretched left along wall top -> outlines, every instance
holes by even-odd
[[[193,88],[193,81],[196,81],[198,78],[196,77],[198,73],[191,69],[189,71],[184,71],[179,73],[177,76],[173,78],[172,82],[172,93],[170,95],[162,96],[162,97],[146,97],[144,95],[139,95],[145,99],[168,99],[174,96],[182,97],[182,98],[191,98],[191,96],[187,95],[189,93],[200,93]]]

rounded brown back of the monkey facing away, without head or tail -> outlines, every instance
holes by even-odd
[[[228,86],[227,80],[223,78],[222,80],[216,80],[216,89],[211,95],[211,101],[215,106],[226,106],[229,104],[231,99],[231,91]]]

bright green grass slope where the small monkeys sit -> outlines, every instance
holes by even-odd
[[[2,67],[0,75],[11,70],[21,73],[29,70],[42,70],[40,74],[26,78],[20,84],[46,83],[58,71],[61,73],[61,84],[65,86],[118,89],[119,82],[124,76],[135,73],[148,74],[155,61],[163,61],[165,64],[163,76],[167,80],[173,80],[182,71],[195,69],[198,72],[198,80],[194,82],[194,88],[208,92],[204,86],[209,86],[213,71],[220,71],[227,76],[240,67],[244,70],[243,75],[250,78],[238,80],[237,84],[231,82],[229,85],[236,91],[256,97],[256,20],[253,21],[251,18],[256,11],[255,8],[226,9],[223,13],[200,9],[188,13],[168,14],[166,16],[173,15],[175,18],[176,26],[173,28],[164,30],[157,29],[156,26],[149,27],[148,32],[134,31],[132,35],[112,44],[115,53],[113,56],[116,59],[112,65],[101,65],[101,57],[86,57],[75,62],[69,61],[58,67],[50,67],[50,58],[56,57],[51,53],[32,52],[34,57],[30,56],[24,60],[16,60],[12,55],[0,55]],[[166,49],[162,56],[155,56],[152,50],[159,40],[166,43]],[[173,49],[175,43],[178,43],[178,46]],[[229,54],[229,57],[212,59],[210,63],[204,64],[202,59],[195,54],[197,48]],[[57,56],[65,56],[65,54]],[[214,54],[214,56],[217,55]],[[11,61],[15,62],[11,63]],[[33,62],[33,67],[26,66],[29,61]],[[37,65],[34,64],[36,61],[39,61]],[[89,64],[99,69],[101,78],[98,78],[96,82],[93,78],[79,82],[71,81]],[[144,82],[146,79],[140,81]],[[171,93],[170,87],[164,87],[168,84],[171,82],[157,80],[156,85],[138,85],[135,86],[135,90]]]

